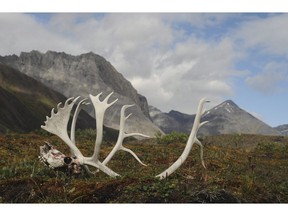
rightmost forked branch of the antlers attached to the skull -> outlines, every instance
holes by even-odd
[[[114,148],[112,149],[112,151],[108,154],[108,156],[105,158],[105,160],[103,161],[103,164],[107,164],[111,158],[115,155],[115,153],[119,150],[123,150],[126,152],[129,152],[130,154],[133,155],[133,157],[143,166],[147,166],[146,164],[144,164],[139,158],[138,156],[131,150],[128,148],[125,148],[123,146],[123,140],[126,137],[131,137],[131,136],[142,136],[142,137],[146,137],[149,138],[149,136],[145,135],[145,134],[141,134],[141,133],[125,133],[125,121],[132,115],[132,113],[130,113],[129,115],[127,115],[125,117],[125,110],[129,107],[135,106],[133,105],[124,105],[121,108],[121,116],[120,116],[120,129],[119,129],[119,135],[118,135],[118,139],[116,142],[116,145],[114,146]]]

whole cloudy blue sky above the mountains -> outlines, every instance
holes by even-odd
[[[231,99],[288,124],[288,13],[0,13],[0,55],[48,50],[106,58],[163,112]]]

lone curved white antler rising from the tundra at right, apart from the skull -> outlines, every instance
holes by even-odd
[[[184,163],[184,161],[187,159],[194,143],[196,143],[200,146],[201,163],[202,163],[203,167],[205,168],[205,164],[204,164],[204,160],[203,160],[203,146],[202,146],[201,142],[196,137],[199,128],[208,122],[208,121],[205,121],[205,122],[200,123],[201,116],[204,113],[203,105],[205,102],[209,102],[209,101],[206,101],[205,98],[202,98],[199,101],[198,108],[197,108],[197,114],[196,114],[196,117],[194,120],[194,124],[193,124],[192,130],[191,130],[191,133],[189,135],[188,141],[186,143],[185,149],[182,152],[181,156],[168,169],[166,169],[165,171],[163,171],[162,173],[160,173],[156,177],[158,177],[160,179],[164,179],[164,178],[167,178],[169,175],[171,175],[173,172],[175,172]]]

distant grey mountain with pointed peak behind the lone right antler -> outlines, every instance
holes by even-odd
[[[156,110],[155,107],[150,107],[151,118],[165,133],[172,131],[189,133],[191,131],[195,115],[187,115],[178,111],[162,113]],[[224,101],[206,111],[201,121],[209,121],[199,130],[199,134],[203,135],[234,133],[281,135],[280,132],[241,109],[231,100]]]

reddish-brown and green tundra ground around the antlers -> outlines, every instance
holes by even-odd
[[[94,137],[76,135],[85,156],[92,154]],[[187,161],[168,179],[154,176],[182,153],[185,135],[142,141],[129,140],[147,167],[130,154],[117,152],[108,166],[121,174],[113,179],[67,176],[38,161],[39,147],[49,141],[63,153],[68,149],[55,136],[8,134],[0,136],[0,203],[287,203],[288,137],[221,135],[205,137],[204,160],[194,145]],[[102,145],[104,158],[113,142]]]

